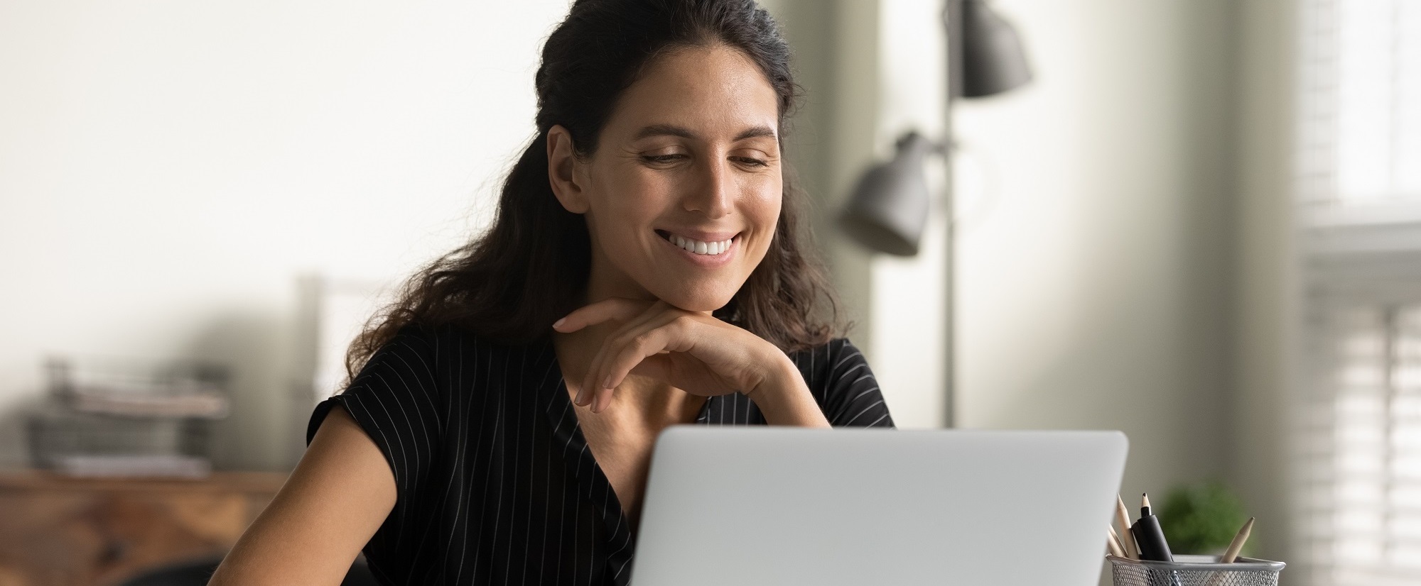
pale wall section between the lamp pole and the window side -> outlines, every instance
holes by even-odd
[[[956,108],[958,421],[1124,430],[1125,494],[1223,475],[1233,3],[993,6],[1036,79]]]

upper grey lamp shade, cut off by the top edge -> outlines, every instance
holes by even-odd
[[[961,0],[962,96],[1000,94],[1032,81],[1022,38],[983,0]]]

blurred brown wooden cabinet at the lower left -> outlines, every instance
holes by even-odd
[[[111,586],[232,548],[286,480],[75,480],[0,474],[0,586]]]

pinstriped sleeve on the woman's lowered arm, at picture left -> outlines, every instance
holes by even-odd
[[[443,420],[435,377],[438,342],[429,331],[405,326],[355,375],[340,394],[315,406],[306,443],[331,411],[341,406],[385,454],[399,499],[418,494],[435,461]]]

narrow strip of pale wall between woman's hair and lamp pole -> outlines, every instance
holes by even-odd
[[[847,318],[898,427],[944,424],[946,213],[934,210],[914,258],[871,255],[837,227],[868,166],[909,129],[939,139],[946,58],[941,0],[767,0],[794,51],[804,99],[789,133],[790,160],[813,203],[814,236]],[[929,160],[929,187],[942,184]]]

